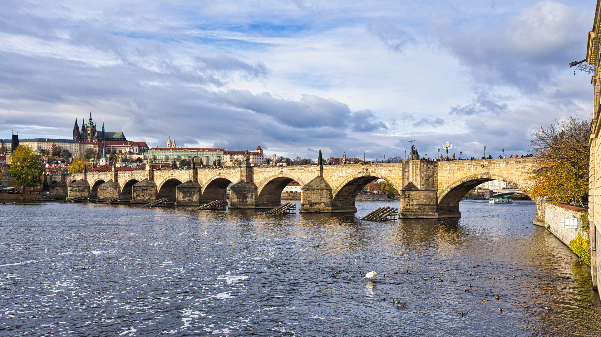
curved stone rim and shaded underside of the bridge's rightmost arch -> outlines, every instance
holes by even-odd
[[[486,183],[486,181],[501,180],[505,183],[517,186],[525,195],[529,195],[529,190],[523,183],[513,180],[511,178],[502,177],[494,174],[474,174],[463,177],[460,180],[453,181],[448,184],[444,190],[438,196],[438,213],[439,214],[456,214],[461,216],[459,212],[459,201],[474,187]]]

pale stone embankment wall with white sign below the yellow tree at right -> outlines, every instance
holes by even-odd
[[[547,202],[545,207],[545,226],[550,226],[549,231],[560,239],[566,246],[578,235],[582,229],[582,214],[587,213],[587,208],[572,205],[552,204]],[[569,220],[576,220],[577,228],[571,228]]]

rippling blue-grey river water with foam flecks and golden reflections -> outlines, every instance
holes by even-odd
[[[601,336],[590,270],[532,202],[359,220],[382,205],[0,205],[0,335]]]

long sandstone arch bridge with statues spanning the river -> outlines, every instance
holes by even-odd
[[[532,158],[406,160],[366,165],[149,169],[66,174],[53,180],[62,181],[67,199],[87,195],[107,201],[123,196],[139,204],[168,198],[175,205],[200,205],[216,199],[227,202],[226,190],[233,184],[230,208],[275,207],[284,187],[296,180],[302,186],[299,211],[334,213],[355,212],[358,192],[371,181],[383,179],[400,192],[400,217],[437,218],[460,217],[460,199],[489,180],[505,181],[529,195],[527,171],[532,162]]]

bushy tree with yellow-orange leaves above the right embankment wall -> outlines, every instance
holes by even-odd
[[[590,120],[570,117],[531,133],[534,166],[529,171],[532,196],[567,203],[588,198]]]

